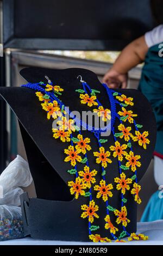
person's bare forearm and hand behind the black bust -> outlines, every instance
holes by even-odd
[[[110,88],[120,86],[122,86],[122,88],[126,88],[128,77],[127,72],[137,64],[143,62],[147,51],[148,46],[145,41],[145,36],[141,36],[131,42],[123,49],[112,68],[106,72],[103,77],[103,83],[108,84]]]

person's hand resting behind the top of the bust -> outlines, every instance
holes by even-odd
[[[120,74],[115,69],[110,69],[103,77],[103,83],[106,83],[109,88],[126,88],[128,74]]]

